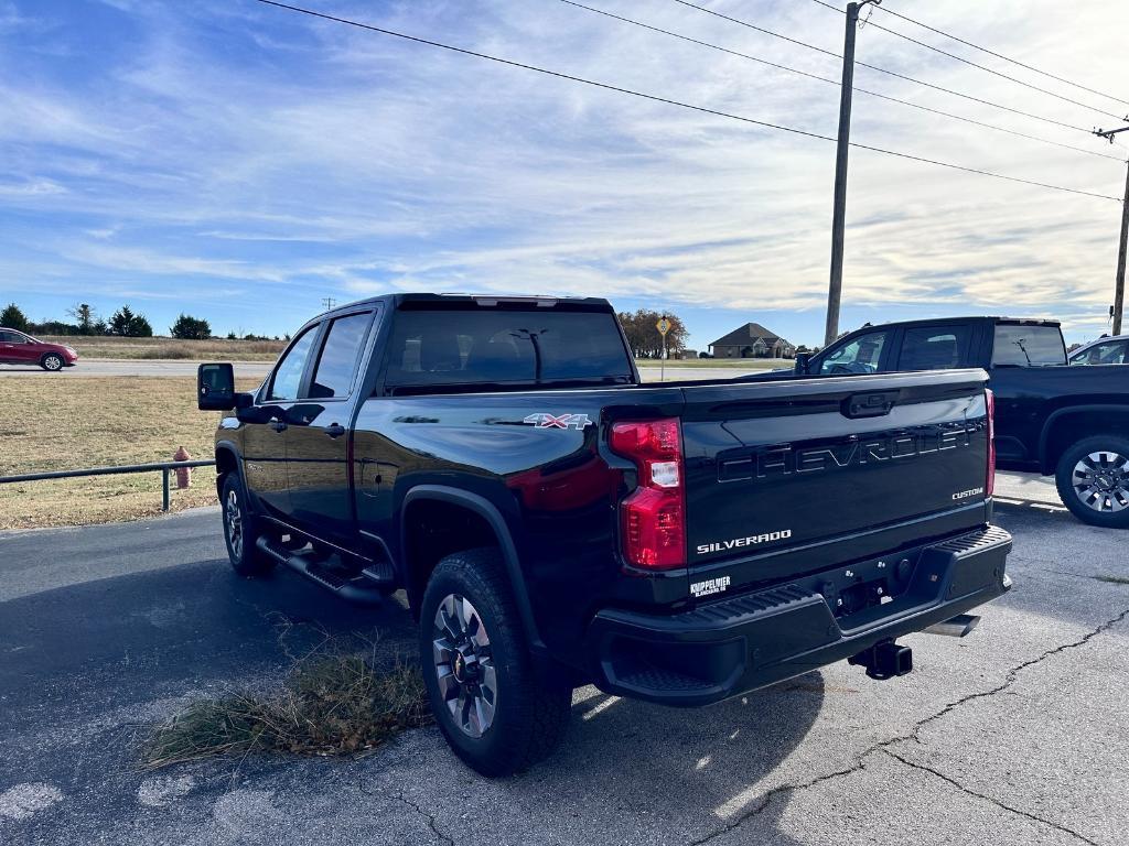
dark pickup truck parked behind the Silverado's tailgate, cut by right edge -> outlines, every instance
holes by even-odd
[[[1001,469],[1054,475],[1062,503],[1093,526],[1129,528],[1129,368],[1068,367],[1057,320],[951,317],[864,326],[807,376],[983,368],[996,396]]]

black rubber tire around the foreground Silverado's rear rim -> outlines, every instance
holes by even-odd
[[[457,597],[479,618],[496,686],[492,716],[479,737],[462,728],[440,693],[437,615]],[[514,591],[501,554],[496,548],[471,549],[443,558],[431,573],[420,603],[420,661],[431,712],[450,748],[484,776],[506,776],[548,757],[561,742],[571,712],[572,688],[567,681],[539,679]],[[447,679],[449,693],[450,679]]]

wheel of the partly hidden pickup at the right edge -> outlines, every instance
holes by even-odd
[[[1054,481],[1062,504],[1084,523],[1129,528],[1129,440],[1084,438],[1062,453]]]

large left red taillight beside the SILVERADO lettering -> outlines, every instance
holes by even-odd
[[[676,417],[613,423],[611,447],[639,468],[639,485],[620,505],[623,555],[636,566],[686,564],[682,430]]]

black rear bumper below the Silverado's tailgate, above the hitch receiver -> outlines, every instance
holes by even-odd
[[[987,526],[682,614],[606,609],[589,624],[586,649],[594,677],[607,693],[706,705],[841,661],[995,599],[1010,588],[1005,573],[1010,550],[1012,536]],[[861,596],[886,599],[866,605]]]

